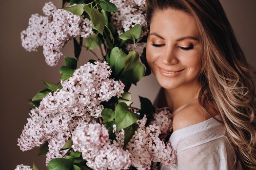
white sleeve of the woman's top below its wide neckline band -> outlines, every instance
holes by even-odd
[[[221,136],[179,151],[177,170],[235,170],[234,156],[228,139]]]

